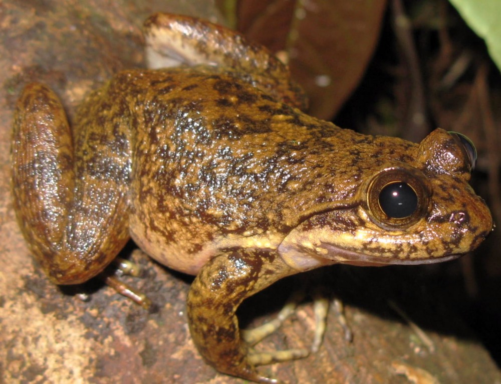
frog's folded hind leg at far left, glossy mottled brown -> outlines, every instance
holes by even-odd
[[[83,114],[92,124],[93,114]],[[109,137],[99,127],[103,133],[88,133],[88,146],[77,155],[63,106],[48,87],[29,84],[16,107],[14,208],[32,253],[56,284],[95,276],[129,238],[125,181],[112,174],[116,151],[106,147]]]

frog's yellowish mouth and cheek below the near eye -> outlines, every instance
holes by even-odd
[[[306,271],[332,264],[356,266],[433,264],[456,259],[472,248],[453,224],[448,244],[425,221],[407,229],[385,230],[373,224],[363,209],[316,214],[296,226],[277,250],[290,267]]]

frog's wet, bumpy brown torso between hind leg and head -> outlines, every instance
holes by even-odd
[[[372,154],[363,151],[373,137],[207,67],[128,71],[109,89],[130,112],[132,237],[187,273],[223,246],[276,248],[302,219],[298,207],[308,213],[355,190],[350,147],[358,162]],[[343,181],[333,185],[336,172]]]

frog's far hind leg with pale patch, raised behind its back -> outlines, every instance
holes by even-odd
[[[146,61],[150,69],[202,66],[226,69],[269,96],[306,110],[308,98],[291,80],[287,65],[264,46],[238,32],[206,20],[158,13],[144,23]]]

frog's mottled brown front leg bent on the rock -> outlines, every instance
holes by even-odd
[[[191,285],[187,304],[191,336],[203,358],[220,372],[276,382],[255,366],[304,357],[295,351],[250,351],[235,315],[245,298],[295,273],[274,251],[228,250],[209,261]]]

